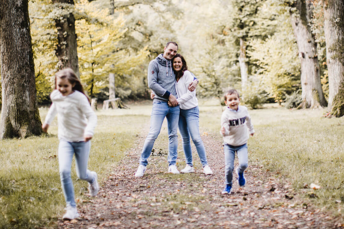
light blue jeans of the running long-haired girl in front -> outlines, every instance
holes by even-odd
[[[69,142],[60,140],[58,145],[58,165],[66,205],[76,207],[74,188],[71,178],[73,155],[75,154],[76,175],[79,179],[92,183],[95,176],[87,169],[90,141]]]

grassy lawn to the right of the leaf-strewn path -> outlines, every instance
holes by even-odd
[[[200,108],[201,129],[216,136],[218,107]],[[256,131],[248,141],[249,163],[288,179],[309,202],[343,217],[344,117],[324,118],[324,113],[283,107],[249,110]],[[321,188],[310,189],[311,183]],[[309,198],[309,193],[316,198]]]

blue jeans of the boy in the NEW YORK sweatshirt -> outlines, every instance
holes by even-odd
[[[245,171],[248,166],[247,144],[241,146],[224,145],[225,152],[225,180],[226,185],[232,186],[235,152],[238,155],[239,173]]]

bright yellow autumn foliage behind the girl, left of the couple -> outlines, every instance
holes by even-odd
[[[38,102],[48,98],[54,87],[53,76],[58,70],[54,19],[61,15],[73,13],[76,19],[80,79],[89,93],[93,88],[91,94],[108,86],[109,72],[116,74],[116,86],[126,87],[117,78],[137,71],[149,54],[146,47],[139,51],[130,47],[119,49],[117,43],[127,30],[125,21],[122,17],[108,15],[108,10],[95,10],[88,1],[79,1],[75,5],[52,4],[49,0],[30,1],[29,13]],[[128,80],[124,81],[127,83]]]

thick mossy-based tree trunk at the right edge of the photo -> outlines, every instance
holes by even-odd
[[[344,115],[344,2],[324,3],[326,60],[329,71],[329,105],[331,116]]]

